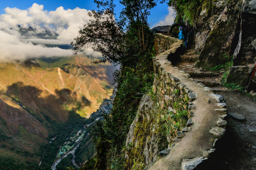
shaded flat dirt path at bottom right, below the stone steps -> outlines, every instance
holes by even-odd
[[[244,121],[228,116],[225,148],[219,168],[227,170],[256,170],[256,103],[240,92],[219,93],[226,98],[228,113],[239,113]],[[223,139],[224,140],[224,139]]]

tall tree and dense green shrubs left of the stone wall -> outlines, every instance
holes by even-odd
[[[103,59],[118,63],[120,70],[114,73],[116,84],[113,109],[104,113],[104,121],[92,126],[90,134],[97,154],[84,169],[124,169],[122,149],[126,135],[134,120],[140,99],[152,89],[155,55],[154,36],[149,29],[147,17],[159,0],[122,0],[124,6],[120,18],[113,16],[113,0],[95,0],[99,10],[92,11],[91,20],[75,39],[74,54],[87,45],[102,53]]]

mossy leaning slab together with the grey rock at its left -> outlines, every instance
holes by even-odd
[[[232,55],[232,43],[238,22],[238,10],[224,1],[215,1],[212,8],[204,4],[195,20],[195,52],[200,54],[201,65],[215,66],[225,63],[223,56]]]

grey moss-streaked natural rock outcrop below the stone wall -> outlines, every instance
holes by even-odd
[[[130,126],[130,131],[126,138],[126,146],[132,144],[133,148],[142,147],[141,151],[143,152],[141,156],[145,158],[146,165],[156,161],[158,152],[160,151],[161,141],[158,140],[160,137],[159,134],[156,133],[157,125],[154,124],[154,121],[152,121],[154,119],[152,116],[154,115],[155,111],[155,104],[151,97],[147,94],[143,95],[136,113],[136,117]],[[138,128],[141,128],[142,125],[145,126],[146,124],[148,125],[145,127],[146,132],[143,133],[144,136],[140,136],[138,131],[144,129]],[[144,142],[141,143],[141,140]],[[125,158],[127,160],[131,160],[131,156],[136,156],[137,158],[140,157],[139,154],[134,150],[130,150],[125,154]]]

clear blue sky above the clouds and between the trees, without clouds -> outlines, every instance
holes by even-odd
[[[1,0],[0,3],[0,15],[4,14],[6,7],[17,7],[19,9],[27,9],[32,6],[33,3],[44,5],[44,10],[55,10],[59,6],[63,6],[64,9],[74,9],[75,7],[84,8],[88,10],[96,9],[96,5],[93,0]],[[120,12],[122,6],[119,4],[119,0],[115,0],[117,5],[116,13]],[[168,15],[168,5],[158,4],[152,9],[151,16],[149,16],[149,23],[154,25],[160,20],[164,20]],[[171,23],[170,23],[171,24]]]

